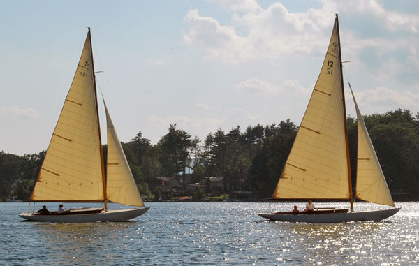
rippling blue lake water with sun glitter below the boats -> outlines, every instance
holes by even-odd
[[[0,203],[0,265],[419,265],[418,203],[396,205],[385,221],[316,225],[257,215],[291,202],[147,202],[151,209],[131,222],[66,224],[24,222],[17,214],[27,203]],[[64,207],[84,206],[101,205]],[[325,206],[348,204],[316,204]]]

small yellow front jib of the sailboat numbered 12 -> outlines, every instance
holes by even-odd
[[[368,202],[395,207],[387,182],[385,182],[383,170],[381,170],[381,165],[372,145],[371,138],[369,138],[367,128],[365,127],[364,119],[355,101],[351,84],[349,84],[349,87],[353,102],[355,103],[356,117],[358,119],[356,197]]]

